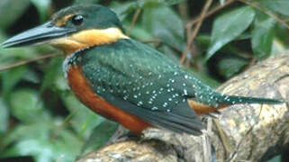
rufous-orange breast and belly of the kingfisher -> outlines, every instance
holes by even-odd
[[[111,103],[107,103],[102,97],[95,94],[86,77],[83,76],[81,67],[77,65],[69,67],[68,85],[82,103],[105,118],[118,121],[135,133],[141,133],[142,130],[150,127],[148,122],[140,120],[140,118],[129,112],[124,112],[122,109],[113,106]]]

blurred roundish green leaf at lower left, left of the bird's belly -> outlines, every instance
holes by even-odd
[[[32,89],[20,89],[10,96],[12,114],[23,122],[35,122],[49,119],[45,112],[39,92]]]

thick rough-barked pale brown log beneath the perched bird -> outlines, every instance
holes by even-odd
[[[149,129],[139,140],[113,143],[78,161],[263,161],[288,146],[289,53],[258,63],[219,91],[279,98],[285,103],[232,105],[217,118],[204,118],[207,130],[202,136]]]

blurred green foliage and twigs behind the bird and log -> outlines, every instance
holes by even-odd
[[[0,42],[71,4],[104,4],[127,34],[217,87],[288,49],[288,0],[1,0]],[[0,48],[0,161],[73,161],[118,125],[79,103],[49,46]],[[273,161],[288,160],[285,156]]]

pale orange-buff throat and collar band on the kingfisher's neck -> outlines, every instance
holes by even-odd
[[[51,45],[64,51],[66,56],[81,49],[110,44],[120,39],[130,39],[118,28],[90,29],[79,31],[68,37],[51,42]]]

